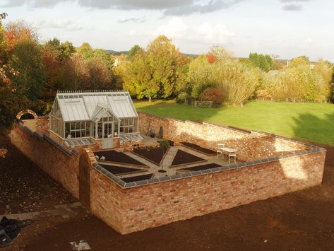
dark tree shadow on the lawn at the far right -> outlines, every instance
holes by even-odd
[[[297,139],[334,146],[334,113],[327,114],[325,118],[303,113],[293,119],[295,125],[292,126],[292,129]]]

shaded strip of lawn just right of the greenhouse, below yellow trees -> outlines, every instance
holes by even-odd
[[[218,112],[224,109],[226,109],[226,107],[201,108],[161,100],[137,107],[137,110],[140,112],[148,112],[161,117],[188,119],[196,122],[208,121],[211,117],[217,115]]]

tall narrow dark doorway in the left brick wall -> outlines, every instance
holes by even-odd
[[[79,156],[79,201],[90,211],[90,160],[84,150]]]

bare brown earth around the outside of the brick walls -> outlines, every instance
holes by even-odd
[[[93,250],[334,250],[334,148],[325,147],[325,174],[318,187],[130,235],[120,235],[86,214],[40,218],[23,228],[14,244],[4,250],[71,250],[69,243],[78,240],[86,240]],[[4,137],[0,137],[0,148],[8,149],[6,159],[0,159],[0,215],[8,211],[4,202],[12,213],[73,202],[71,195]],[[12,182],[3,183],[4,172]],[[35,182],[22,183],[30,177]],[[25,189],[18,192],[7,187],[20,182]],[[35,197],[25,199],[27,189]],[[4,192],[8,197],[3,197]],[[24,206],[20,206],[22,199]]]

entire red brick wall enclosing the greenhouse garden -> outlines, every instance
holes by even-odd
[[[141,132],[163,126],[164,137],[174,141],[212,149],[217,142],[223,142],[238,148],[238,155],[245,162],[126,183],[98,165],[93,153],[88,153],[92,163],[90,211],[119,233],[153,228],[321,184],[326,150],[318,146],[263,132],[139,115]],[[74,197],[79,197],[77,150],[70,151],[49,135],[32,132],[21,124],[13,128],[11,141]]]

